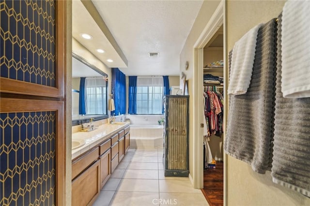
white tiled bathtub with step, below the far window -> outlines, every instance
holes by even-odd
[[[157,148],[163,147],[163,125],[131,124],[130,147]]]

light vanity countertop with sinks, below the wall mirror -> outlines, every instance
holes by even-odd
[[[88,151],[92,147],[95,147],[99,143],[108,139],[112,133],[124,129],[129,126],[130,122],[124,122],[124,124],[103,124],[91,132],[75,132],[72,133],[72,141],[84,140],[85,145],[72,150],[72,160],[77,158],[80,154]]]

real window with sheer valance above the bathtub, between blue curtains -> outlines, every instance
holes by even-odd
[[[162,114],[163,78],[137,78],[137,114]]]

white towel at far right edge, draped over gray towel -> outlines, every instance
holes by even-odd
[[[310,1],[288,0],[282,12],[282,82],[286,98],[310,97]]]

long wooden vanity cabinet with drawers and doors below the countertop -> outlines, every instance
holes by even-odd
[[[129,148],[130,127],[72,162],[72,205],[92,205]]]

